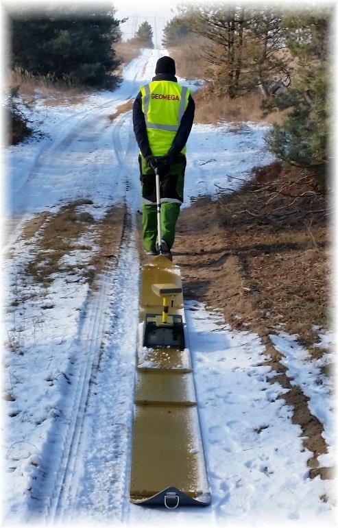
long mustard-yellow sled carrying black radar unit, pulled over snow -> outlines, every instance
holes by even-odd
[[[180,269],[162,254],[143,266],[130,501],[206,506],[210,490],[184,317]]]

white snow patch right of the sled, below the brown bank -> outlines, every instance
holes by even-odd
[[[212,503],[180,508],[179,526],[334,526],[334,483],[309,478],[311,453],[258,335],[224,324],[219,311],[186,302],[186,322]],[[130,505],[132,525],[167,526],[166,512]]]

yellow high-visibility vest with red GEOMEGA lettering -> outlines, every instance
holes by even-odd
[[[153,156],[165,156],[188,106],[191,90],[173,81],[152,81],[140,90],[150,149]],[[186,152],[185,146],[181,152]]]

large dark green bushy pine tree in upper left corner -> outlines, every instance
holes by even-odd
[[[114,11],[50,8],[10,12],[12,66],[56,80],[104,86],[116,84],[119,66],[112,45],[121,38]]]

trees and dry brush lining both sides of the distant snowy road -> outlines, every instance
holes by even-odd
[[[165,26],[162,45],[178,73],[201,78],[197,121],[267,119],[267,143],[282,160],[308,167],[322,182],[330,134],[330,57],[333,8],[286,11],[273,6],[183,5]],[[114,8],[57,6],[8,12],[14,143],[29,134],[16,105],[23,83],[69,89],[114,89],[121,62],[154,47],[145,21],[122,42]]]

